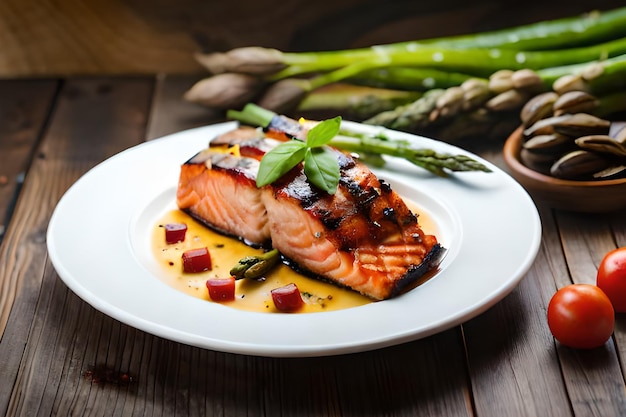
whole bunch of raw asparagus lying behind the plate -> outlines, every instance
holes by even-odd
[[[531,97],[584,88],[607,113],[626,83],[626,7],[498,31],[321,52],[198,54],[211,76],[186,94],[220,109],[344,118],[456,142],[505,137]],[[582,85],[582,87],[581,87]],[[623,94],[626,95],[626,92]],[[606,98],[604,98],[606,96]]]

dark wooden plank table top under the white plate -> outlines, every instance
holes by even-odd
[[[594,283],[602,256],[626,246],[624,213],[539,206],[540,251],[506,298],[447,331],[363,353],[266,358],[200,349],[127,326],[82,301],[47,256],[53,209],[105,158],[220,121],[181,100],[193,81],[0,81],[1,414],[626,415],[626,317],[618,315],[614,337],[590,351],[556,343],[546,321],[557,288]],[[482,155],[502,166],[500,149]]]

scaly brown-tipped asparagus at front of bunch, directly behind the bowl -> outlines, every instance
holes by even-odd
[[[418,132],[448,142],[506,138],[520,125],[520,111],[534,97],[587,93],[593,114],[611,118],[626,111],[626,55],[543,70],[499,70],[489,79],[432,89],[420,99],[382,111],[364,122]],[[623,115],[621,116],[624,117]]]

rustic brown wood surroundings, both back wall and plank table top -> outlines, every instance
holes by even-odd
[[[203,72],[195,51],[364,46],[624,5],[559,2],[0,0],[0,415],[626,415],[626,316],[589,352],[556,344],[545,320],[557,287],[591,283],[603,254],[626,245],[623,213],[540,206],[542,248],[502,302],[422,340],[328,358],[141,332],[79,299],[45,255],[52,210],[86,170],[222,120],[180,99]],[[503,166],[499,149],[481,155]],[[98,384],[94,365],[135,382]]]

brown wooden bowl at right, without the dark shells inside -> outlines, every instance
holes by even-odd
[[[557,209],[606,213],[626,209],[626,178],[601,181],[573,181],[534,171],[520,162],[522,128],[504,144],[503,156],[509,172],[536,202]]]

